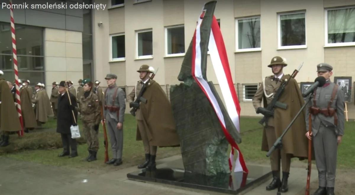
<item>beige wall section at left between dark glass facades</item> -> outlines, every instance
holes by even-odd
[[[71,80],[74,87],[83,77],[82,33],[68,30],[44,29],[44,64],[47,93],[52,82]]]

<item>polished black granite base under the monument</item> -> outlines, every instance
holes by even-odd
[[[232,174],[218,174],[217,176],[205,176],[185,172],[183,168],[169,168],[168,165],[158,166],[156,170],[138,170],[128,173],[129,179],[158,182],[176,186],[195,188],[220,193],[239,194],[257,187],[260,183],[271,178],[271,170],[268,167],[247,165],[249,173],[233,172]]]

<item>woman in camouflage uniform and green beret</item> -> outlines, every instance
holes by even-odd
[[[90,79],[83,80],[84,94],[80,97],[80,114],[83,122],[86,143],[88,144],[88,162],[96,160],[99,149],[99,124],[101,120],[100,104],[97,94],[93,92],[93,83]]]

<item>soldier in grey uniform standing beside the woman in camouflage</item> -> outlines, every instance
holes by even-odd
[[[125,92],[116,85],[117,76],[107,74],[105,80],[108,88],[105,91],[104,119],[110,135],[113,158],[106,164],[119,166],[122,164],[123,121],[125,116]]]

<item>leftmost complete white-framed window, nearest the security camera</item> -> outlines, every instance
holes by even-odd
[[[110,61],[125,60],[125,35],[111,35],[111,58]]]

